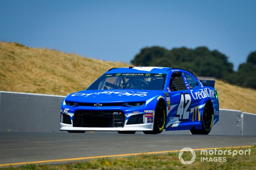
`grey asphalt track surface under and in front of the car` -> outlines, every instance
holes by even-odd
[[[0,167],[256,145],[256,136],[0,132]]]

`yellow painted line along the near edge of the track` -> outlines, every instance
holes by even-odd
[[[201,149],[193,149],[193,150],[194,150],[194,151],[199,151],[199,150],[229,149],[229,148],[247,148],[247,147],[254,147],[254,146],[252,145],[252,146],[232,146],[232,147],[220,147],[220,148],[201,148]],[[109,157],[120,157],[120,156],[132,156],[132,155],[144,155],[144,154],[169,153],[169,152],[180,152],[180,150],[174,150],[174,151],[159,151],[159,152],[145,152],[145,153],[128,153],[128,154],[121,154],[121,155],[92,156],[92,157],[70,158],[70,159],[41,160],[41,161],[32,161],[32,162],[19,162],[19,163],[10,163],[10,164],[0,164],[0,166],[12,166],[12,165],[24,165],[24,164],[38,164],[38,163],[61,162],[61,161],[72,161],[72,160],[84,160],[84,159],[95,159],[95,158],[109,158]]]

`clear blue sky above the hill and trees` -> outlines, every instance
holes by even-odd
[[[255,9],[254,0],[0,0],[0,40],[126,63],[147,46],[206,46],[236,69],[256,51]]]

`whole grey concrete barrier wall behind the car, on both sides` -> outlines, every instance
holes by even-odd
[[[63,132],[60,104],[65,96],[0,91],[0,131]],[[256,114],[220,109],[209,135],[256,135]],[[139,132],[138,132],[139,133]],[[164,131],[163,134],[190,134]]]

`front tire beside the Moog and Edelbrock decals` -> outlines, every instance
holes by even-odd
[[[153,131],[143,131],[145,134],[159,134],[164,130],[166,121],[164,105],[157,103],[154,117],[154,129]]]

